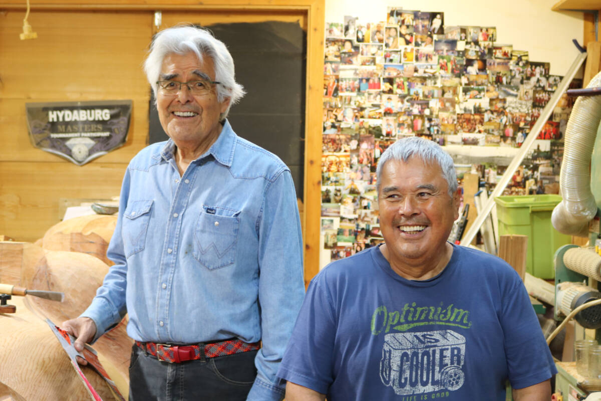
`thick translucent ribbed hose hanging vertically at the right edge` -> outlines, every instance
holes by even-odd
[[[597,73],[587,88],[601,86]],[[588,222],[597,214],[590,185],[590,162],[601,121],[601,96],[576,99],[566,127],[561,161],[560,190],[563,200],[555,206],[551,222],[560,233],[588,236]]]

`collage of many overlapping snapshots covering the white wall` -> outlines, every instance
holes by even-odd
[[[395,140],[520,147],[563,78],[527,51],[497,43],[494,26],[445,23],[442,11],[400,8],[380,22],[326,23],[322,234],[331,260],[382,242],[375,171]],[[557,191],[572,105],[560,99],[504,194]],[[506,167],[472,171],[492,189]]]

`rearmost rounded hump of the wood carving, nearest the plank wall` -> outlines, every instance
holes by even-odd
[[[49,251],[73,251],[90,254],[105,262],[106,248],[117,225],[116,215],[88,215],[75,217],[50,227],[42,239],[42,247]]]

